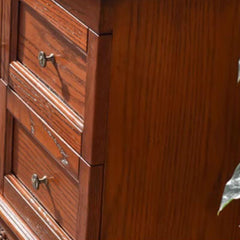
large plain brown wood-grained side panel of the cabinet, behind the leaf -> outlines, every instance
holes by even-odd
[[[240,2],[123,0],[113,35],[103,240],[236,240]]]

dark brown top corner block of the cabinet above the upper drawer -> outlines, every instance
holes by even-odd
[[[97,34],[111,33],[113,29],[112,0],[57,0]]]

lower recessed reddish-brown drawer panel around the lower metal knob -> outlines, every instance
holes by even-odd
[[[13,132],[13,174],[27,187],[56,221],[76,237],[79,190],[76,181],[68,177],[41,146],[15,121]],[[46,176],[48,184],[34,189],[32,176]]]

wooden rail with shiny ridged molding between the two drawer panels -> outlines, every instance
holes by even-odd
[[[10,85],[50,127],[81,152],[82,122],[70,109],[21,64],[12,63]]]

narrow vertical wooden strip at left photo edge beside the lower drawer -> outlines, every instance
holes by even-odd
[[[6,137],[6,106],[7,86],[0,79],[0,191],[3,190],[4,163],[5,163],[5,137]]]

